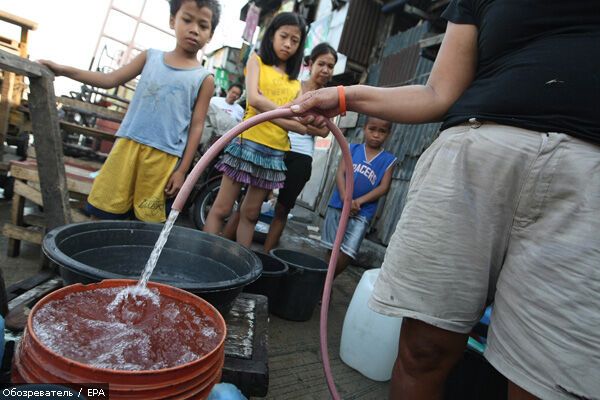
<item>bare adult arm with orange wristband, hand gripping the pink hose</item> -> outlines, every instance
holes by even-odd
[[[477,66],[477,27],[448,22],[439,54],[425,85],[377,88],[347,87],[347,109],[398,123],[440,120],[471,84]],[[337,89],[325,88],[306,93],[294,101],[292,109],[304,113],[314,108],[326,117],[339,114]],[[313,123],[308,116],[303,123]],[[323,118],[317,118],[321,126]]]

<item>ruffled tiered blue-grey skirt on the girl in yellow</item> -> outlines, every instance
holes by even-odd
[[[284,151],[236,138],[227,145],[216,168],[235,182],[267,190],[280,189],[285,181],[284,155]]]

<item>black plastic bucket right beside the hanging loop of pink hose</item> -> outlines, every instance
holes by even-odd
[[[273,249],[270,254],[289,267],[272,313],[291,321],[309,320],[323,292],[327,263],[294,250]]]

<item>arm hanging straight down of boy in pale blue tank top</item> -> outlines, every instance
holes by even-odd
[[[194,155],[198,149],[200,139],[202,138],[202,130],[204,129],[204,120],[206,119],[206,111],[208,110],[208,103],[215,90],[215,80],[212,75],[207,76],[202,82],[200,91],[198,92],[198,99],[194,106],[194,112],[192,113],[192,121],[190,122],[190,130],[188,133],[188,140],[183,152],[183,157],[179,163],[179,167],[173,172],[167,185],[165,186],[165,194],[169,197],[175,196],[183,182],[185,181],[185,175],[192,166]]]

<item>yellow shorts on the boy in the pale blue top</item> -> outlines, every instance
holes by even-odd
[[[103,219],[130,215],[146,222],[164,222],[165,192],[178,157],[126,138],[117,139],[94,180],[90,214]]]

